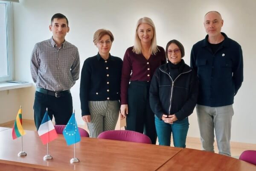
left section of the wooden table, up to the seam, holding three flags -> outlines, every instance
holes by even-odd
[[[76,170],[76,171],[154,171],[160,168],[181,148],[170,148],[143,143],[81,137],[76,143],[79,163],[70,164],[74,157],[73,145],[67,146],[63,135],[49,143],[52,160],[44,161],[47,146],[41,143],[37,132],[26,131],[23,136],[25,157],[17,157],[21,151],[21,138],[12,140],[12,129],[0,132],[0,170]],[[15,167],[14,167],[15,166]],[[48,167],[47,167],[48,166]]]

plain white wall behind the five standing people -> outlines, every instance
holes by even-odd
[[[111,54],[122,58],[126,48],[133,45],[137,20],[144,16],[150,17],[156,25],[158,45],[165,48],[171,39],[183,43],[186,50],[184,60],[189,64],[192,45],[206,35],[204,14],[217,10],[224,19],[222,31],[239,42],[244,55],[244,83],[235,97],[231,140],[256,143],[256,115],[253,107],[256,102],[256,69],[253,66],[256,62],[255,8],[255,0],[20,0],[20,3],[14,3],[15,78],[32,81],[29,69],[32,49],[36,42],[49,39],[52,35],[48,25],[52,15],[57,12],[65,14],[69,19],[70,33],[66,39],[79,48],[82,66],[86,58],[97,53],[93,45],[93,33],[97,29],[112,31],[115,40]],[[71,92],[76,119],[79,124],[83,124],[80,117],[79,84],[80,80]],[[23,109],[27,108],[23,118],[33,119],[35,88],[17,91]],[[12,96],[1,93],[0,104],[5,104],[6,98]],[[11,109],[5,110],[6,115],[11,112]],[[199,137],[196,114],[192,114],[189,119],[188,136]]]

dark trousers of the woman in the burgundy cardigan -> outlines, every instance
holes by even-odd
[[[154,113],[149,105],[150,82],[131,81],[128,88],[126,129],[147,135],[151,143],[157,141]]]

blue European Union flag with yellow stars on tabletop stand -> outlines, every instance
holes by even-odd
[[[77,143],[81,140],[78,126],[76,123],[75,113],[72,114],[65,129],[63,130],[63,135],[68,146]]]

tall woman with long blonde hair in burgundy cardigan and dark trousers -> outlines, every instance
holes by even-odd
[[[155,144],[157,135],[149,105],[149,87],[154,71],[166,63],[166,58],[164,49],[157,46],[155,26],[150,18],[138,20],[134,46],[126,50],[123,60],[121,116],[126,118],[126,129],[144,132]]]

